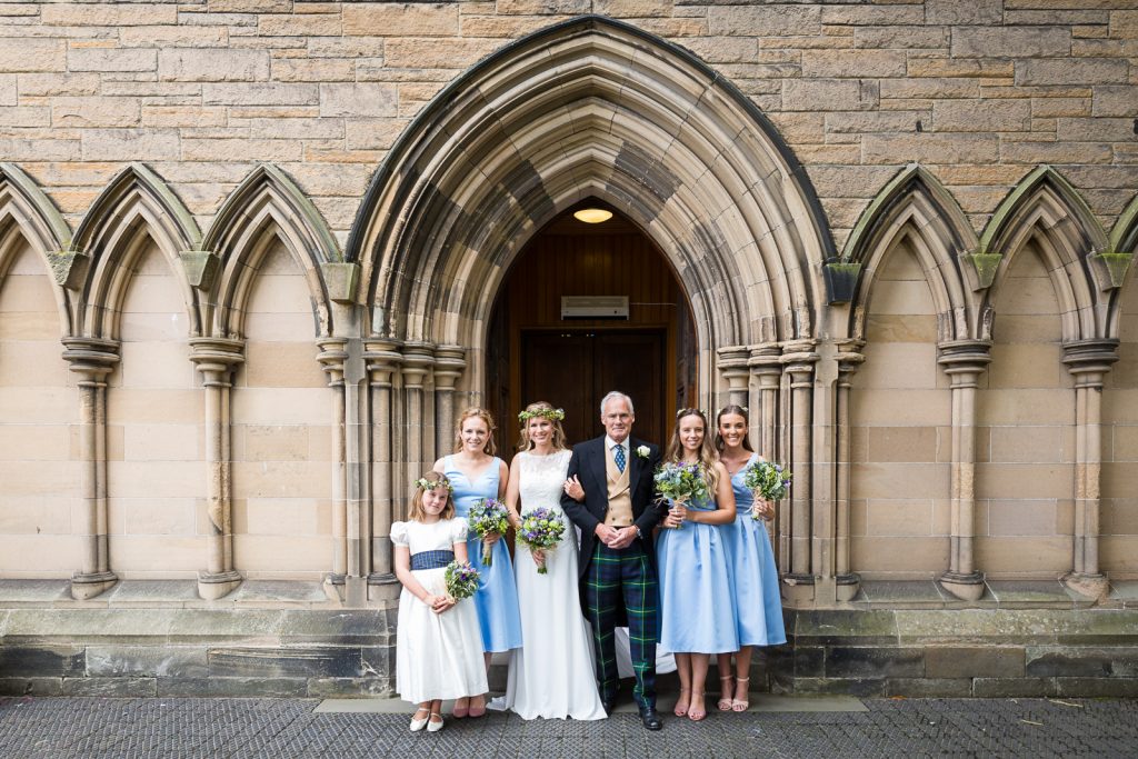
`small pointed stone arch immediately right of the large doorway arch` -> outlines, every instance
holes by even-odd
[[[910,164],[869,203],[850,233],[842,262],[860,264],[849,335],[865,339],[873,284],[885,257],[907,240],[925,274],[937,308],[938,341],[964,340],[980,331],[974,273],[960,259],[976,248],[976,234],[951,192],[929,170]]]

